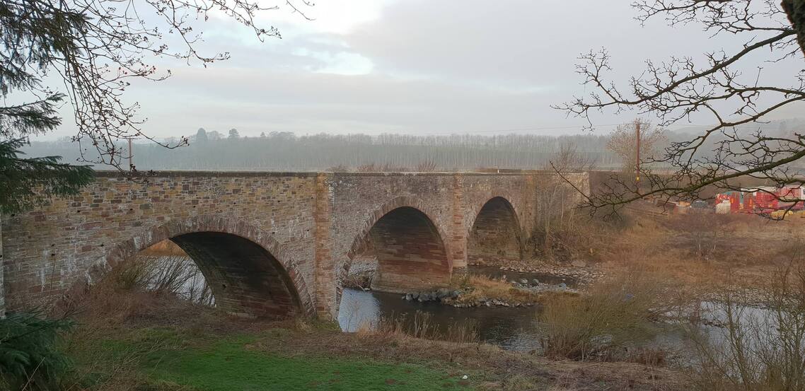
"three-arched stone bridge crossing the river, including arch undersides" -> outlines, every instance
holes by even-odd
[[[586,174],[572,174],[588,188]],[[551,173],[101,172],[81,194],[0,220],[0,309],[54,303],[170,239],[217,305],[243,315],[335,316],[356,257],[374,288],[446,286],[468,259],[522,257]]]

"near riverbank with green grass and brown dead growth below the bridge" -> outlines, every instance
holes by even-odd
[[[138,303],[138,305],[134,305]],[[63,345],[73,389],[680,389],[678,373],[553,361],[488,344],[395,332],[343,333],[310,320],[259,322],[169,297],[93,303]]]

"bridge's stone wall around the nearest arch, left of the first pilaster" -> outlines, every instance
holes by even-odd
[[[162,173],[147,183],[101,176],[78,196],[3,217],[8,306],[51,302],[149,245],[199,231],[273,247],[297,289],[313,286],[315,198],[307,174]],[[308,312],[310,294],[299,292]]]

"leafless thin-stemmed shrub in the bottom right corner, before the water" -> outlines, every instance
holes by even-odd
[[[689,374],[700,390],[805,390],[805,269],[790,265],[770,283],[765,308],[726,291],[711,315],[723,325],[691,327],[696,356]]]

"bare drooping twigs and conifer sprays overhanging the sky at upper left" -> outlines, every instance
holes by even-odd
[[[52,129],[60,123],[56,107],[67,98],[78,128],[72,141],[80,143],[81,159],[119,168],[130,152],[118,141],[157,142],[142,133],[138,103],[124,99],[133,80],[171,75],[151,61],[174,58],[206,66],[228,59],[226,52],[199,51],[198,25],[213,13],[250,27],[258,39],[279,37],[275,27],[256,20],[277,4],[304,15],[292,0],[0,0],[0,97],[14,92],[14,101],[22,102],[0,105],[0,136],[6,128],[30,130],[31,124],[39,132]],[[164,146],[185,143],[182,138]]]

